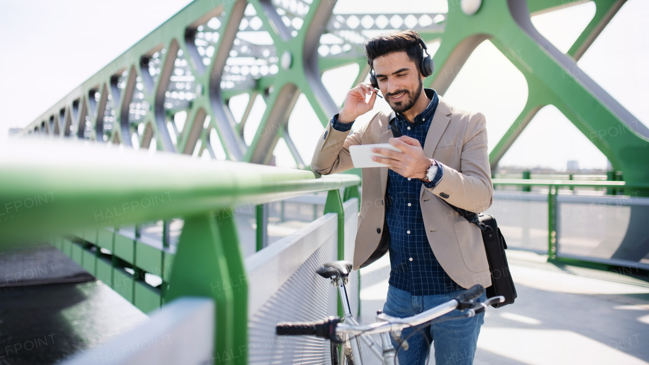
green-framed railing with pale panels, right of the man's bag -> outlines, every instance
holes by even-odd
[[[495,190],[493,205],[487,210],[500,217],[506,239],[508,235],[513,238],[510,247],[546,253],[550,260],[649,270],[645,227],[649,197],[642,196],[649,184],[545,179],[492,182],[495,187],[523,188]],[[531,192],[532,186],[542,191]],[[623,191],[624,195],[574,194],[575,188],[585,187]]]

